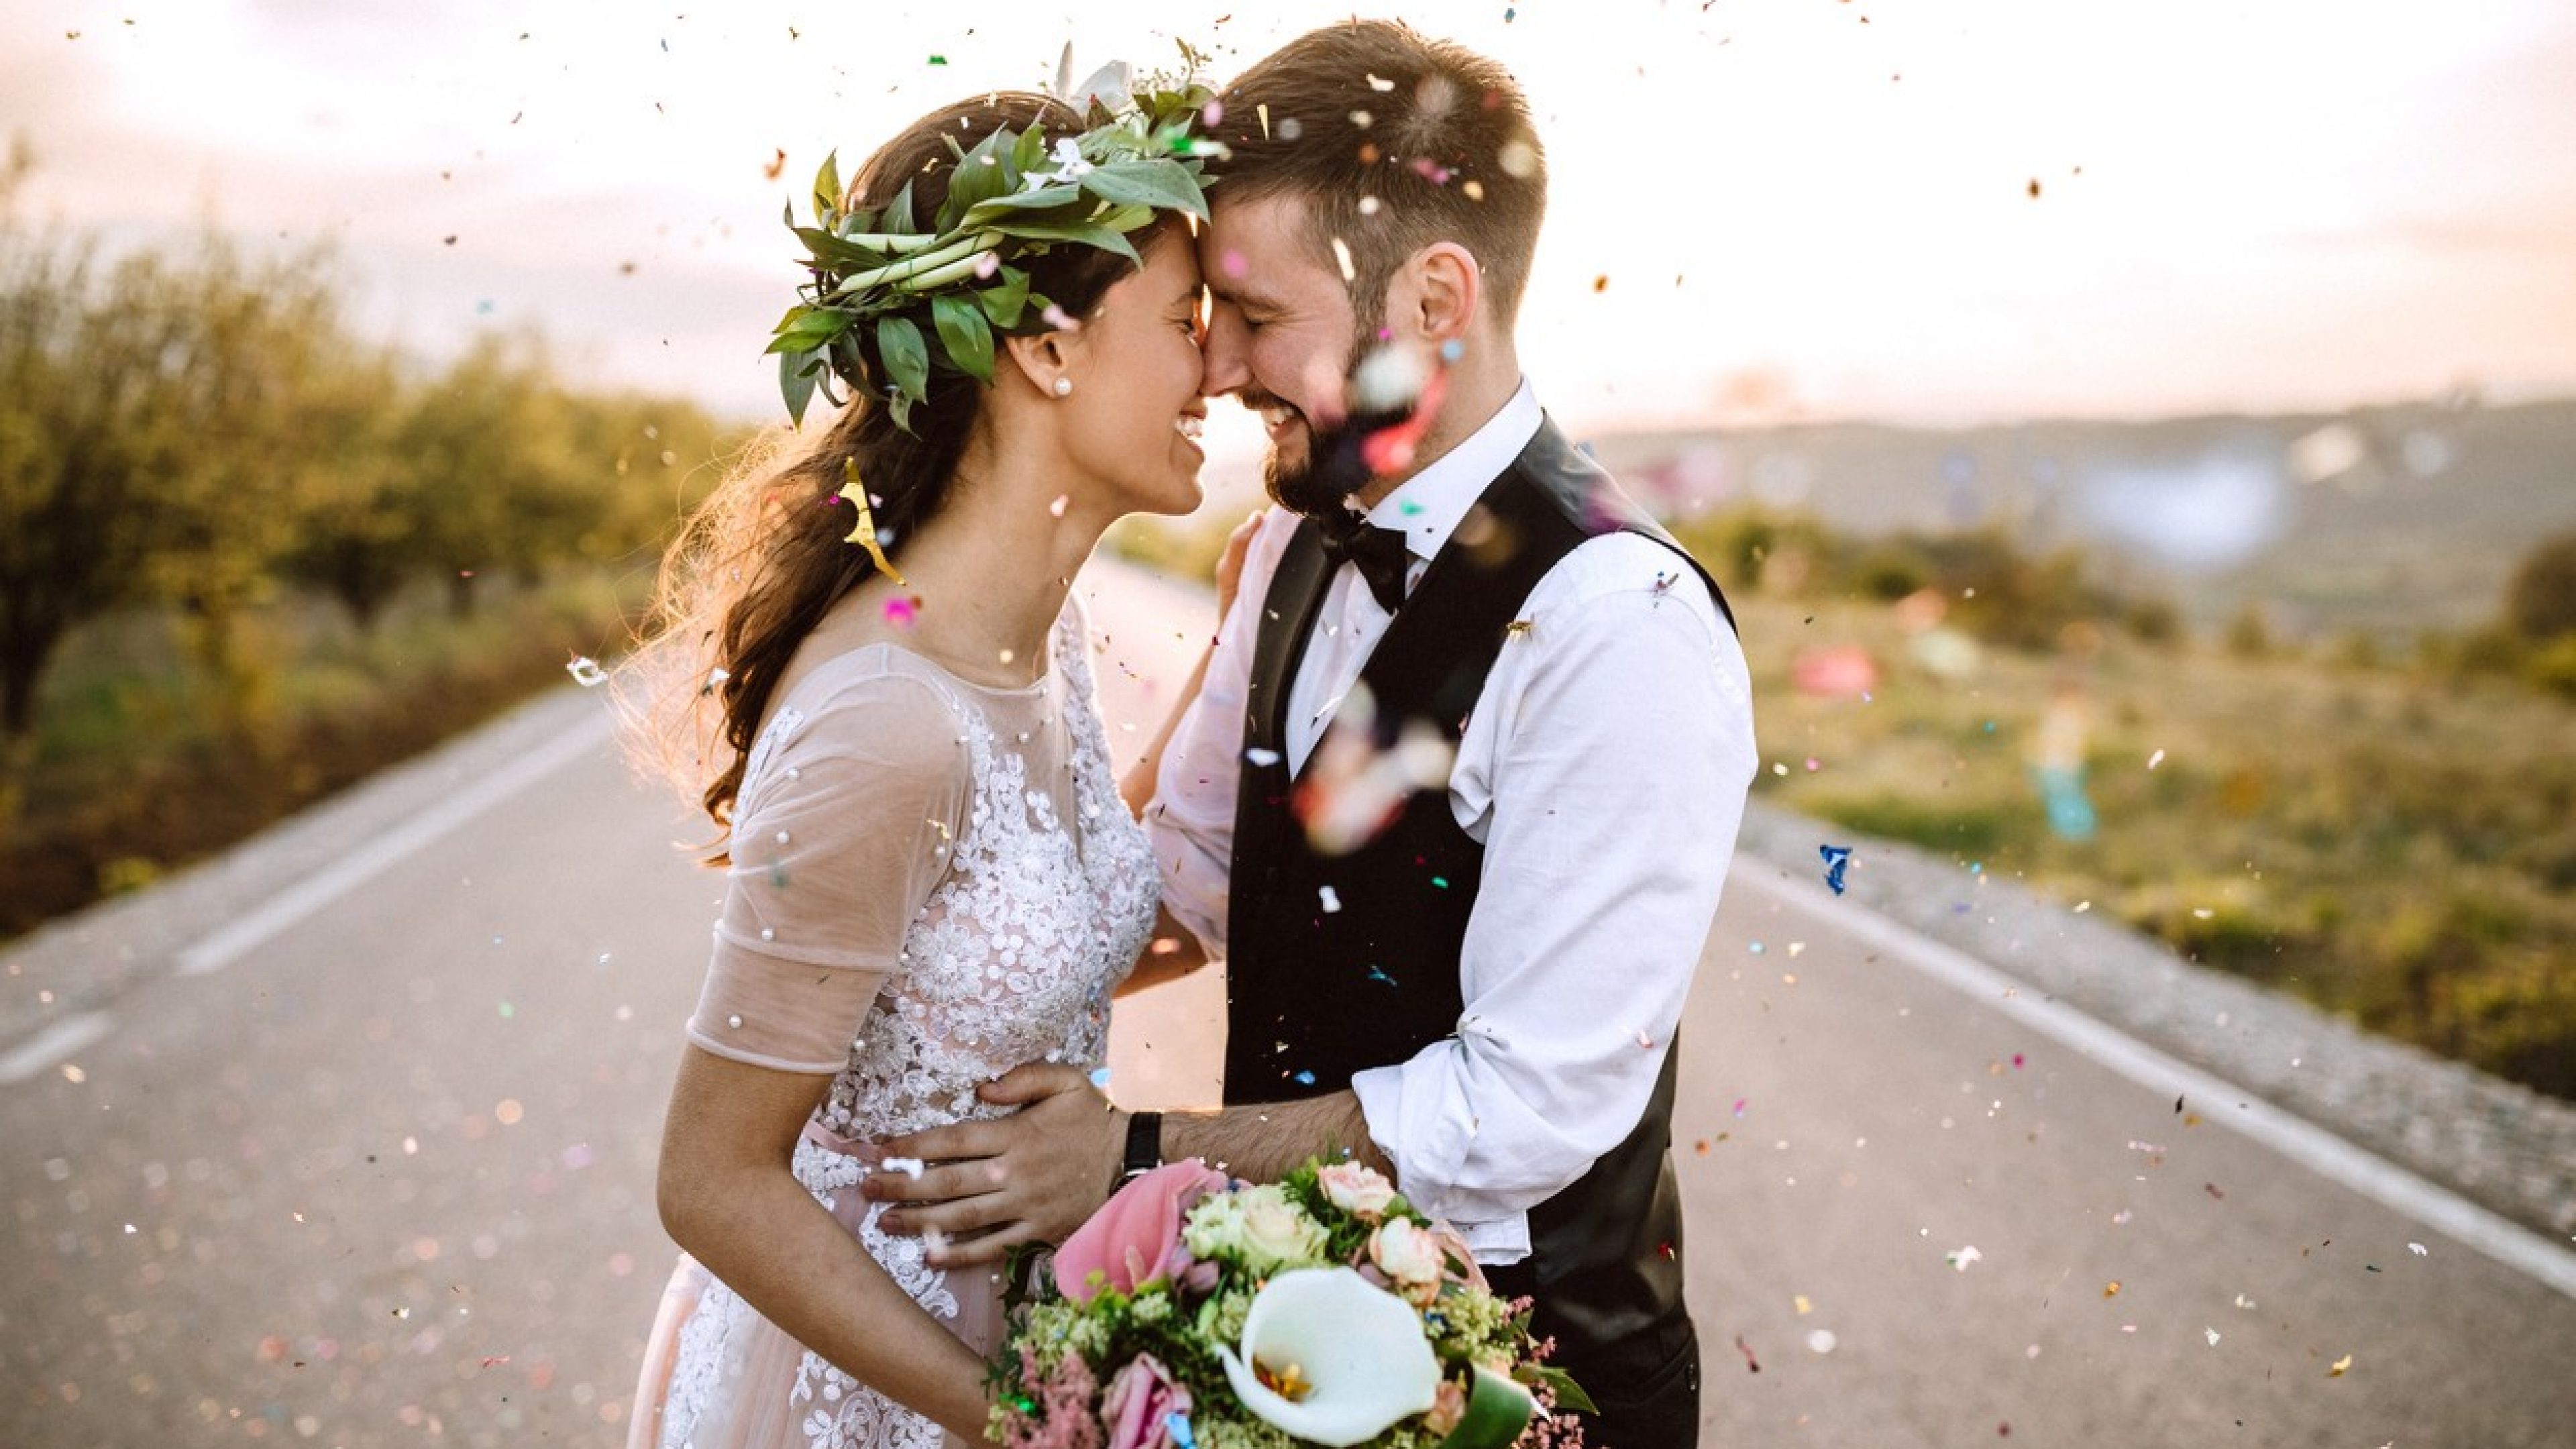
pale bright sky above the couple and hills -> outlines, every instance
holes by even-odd
[[[775,418],[781,204],[958,95],[1347,5],[10,0],[18,206],[327,240],[374,335]],[[2576,392],[2566,0],[1417,0],[1538,111],[1577,428]],[[783,162],[781,162],[781,152]],[[770,170],[778,175],[770,175]],[[2035,191],[2035,193],[2032,193]],[[1221,410],[1231,413],[1231,410]]]

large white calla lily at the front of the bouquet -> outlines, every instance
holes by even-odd
[[[1440,1359],[1422,1336],[1422,1318],[1350,1269],[1296,1269],[1270,1279],[1252,1294],[1242,1354],[1216,1351],[1244,1408],[1332,1449],[1376,1439],[1430,1410],[1440,1392]],[[1293,1372],[1309,1387],[1291,1400],[1252,1364],[1273,1379]]]

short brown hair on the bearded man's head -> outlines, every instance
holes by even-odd
[[[1221,101],[1208,131],[1231,155],[1211,162],[1224,178],[1211,196],[1306,201],[1306,242],[1347,271],[1363,327],[1383,325],[1386,284],[1432,242],[1476,255],[1494,317],[1512,325],[1548,160],[1510,70],[1401,21],[1345,21],[1262,57]]]

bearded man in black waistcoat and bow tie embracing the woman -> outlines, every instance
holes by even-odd
[[[1146,828],[1229,962],[1229,1106],[1131,1116],[1023,1067],[987,1088],[1020,1114],[891,1142],[945,1165],[866,1191],[907,1201],[891,1230],[987,1232],[940,1256],[974,1263],[1061,1240],[1121,1163],[1347,1150],[1535,1297],[1595,1446],[1695,1444],[1669,1119],[1754,771],[1731,616],[1520,374],[1546,160],[1499,64],[1329,26],[1213,131],[1206,389],[1267,423],[1285,511]]]

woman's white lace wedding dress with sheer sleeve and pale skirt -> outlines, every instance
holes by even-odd
[[[876,1227],[858,1181],[871,1142],[994,1116],[976,1085],[1020,1062],[1100,1062],[1110,987],[1154,928],[1154,861],[1118,799],[1079,608],[1066,603],[1030,688],[976,686],[894,645],[809,673],[752,748],[729,871],[690,1039],[835,1073],[796,1178],[922,1312],[992,1354],[999,1279],[933,1269],[917,1238]],[[762,969],[775,990],[744,990]],[[685,1256],[629,1434],[631,1449],[945,1439]]]

